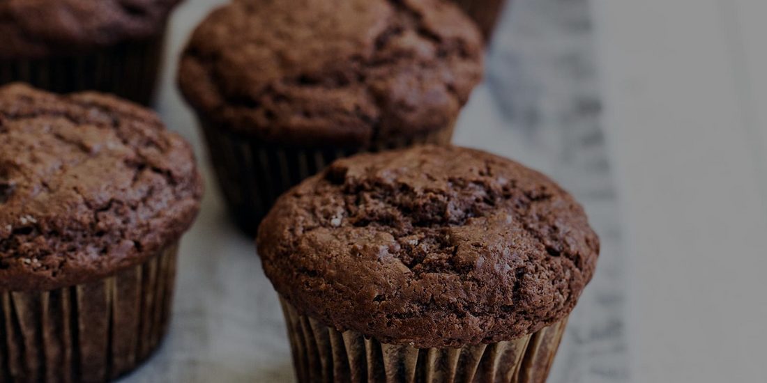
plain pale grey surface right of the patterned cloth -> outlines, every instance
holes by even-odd
[[[592,5],[634,381],[765,381],[767,2]]]

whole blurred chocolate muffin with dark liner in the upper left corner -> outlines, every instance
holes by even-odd
[[[0,84],[99,90],[148,104],[170,11],[181,0],[0,2]]]

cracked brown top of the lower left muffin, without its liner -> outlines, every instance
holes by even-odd
[[[99,280],[192,224],[191,147],[149,110],[97,93],[0,88],[0,291]]]

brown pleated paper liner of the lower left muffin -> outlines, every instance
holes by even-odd
[[[166,333],[177,250],[95,283],[0,292],[0,383],[104,383],[136,368]]]

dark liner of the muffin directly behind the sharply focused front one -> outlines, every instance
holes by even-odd
[[[282,193],[321,172],[336,159],[360,152],[380,152],[426,143],[446,145],[453,138],[455,122],[436,133],[356,148],[275,146],[231,133],[205,119],[200,120],[200,126],[229,211],[243,231],[255,235],[258,224]]]

